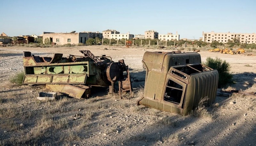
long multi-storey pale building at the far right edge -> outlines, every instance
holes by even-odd
[[[256,34],[255,33],[210,33],[203,32],[202,41],[211,43],[212,41],[218,41],[222,43],[227,43],[228,40],[239,40],[240,43],[252,44],[256,43]]]

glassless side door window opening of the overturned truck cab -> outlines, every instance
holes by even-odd
[[[182,92],[183,86],[169,79],[164,92],[164,101],[180,104]]]

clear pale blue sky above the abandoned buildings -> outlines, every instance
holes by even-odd
[[[180,34],[199,39],[202,32],[256,33],[255,0],[12,0],[1,1],[0,33],[99,31]]]

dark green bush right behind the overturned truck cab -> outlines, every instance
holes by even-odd
[[[230,64],[225,60],[222,61],[218,57],[216,57],[216,59],[207,57],[206,62],[204,62],[204,65],[212,69],[218,70],[219,72],[218,88],[224,87],[225,85],[232,83],[232,75],[229,73]]]

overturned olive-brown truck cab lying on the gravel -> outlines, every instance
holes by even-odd
[[[207,98],[204,106],[215,101],[218,71],[201,64],[198,53],[145,52],[144,96],[138,105],[187,115]]]

